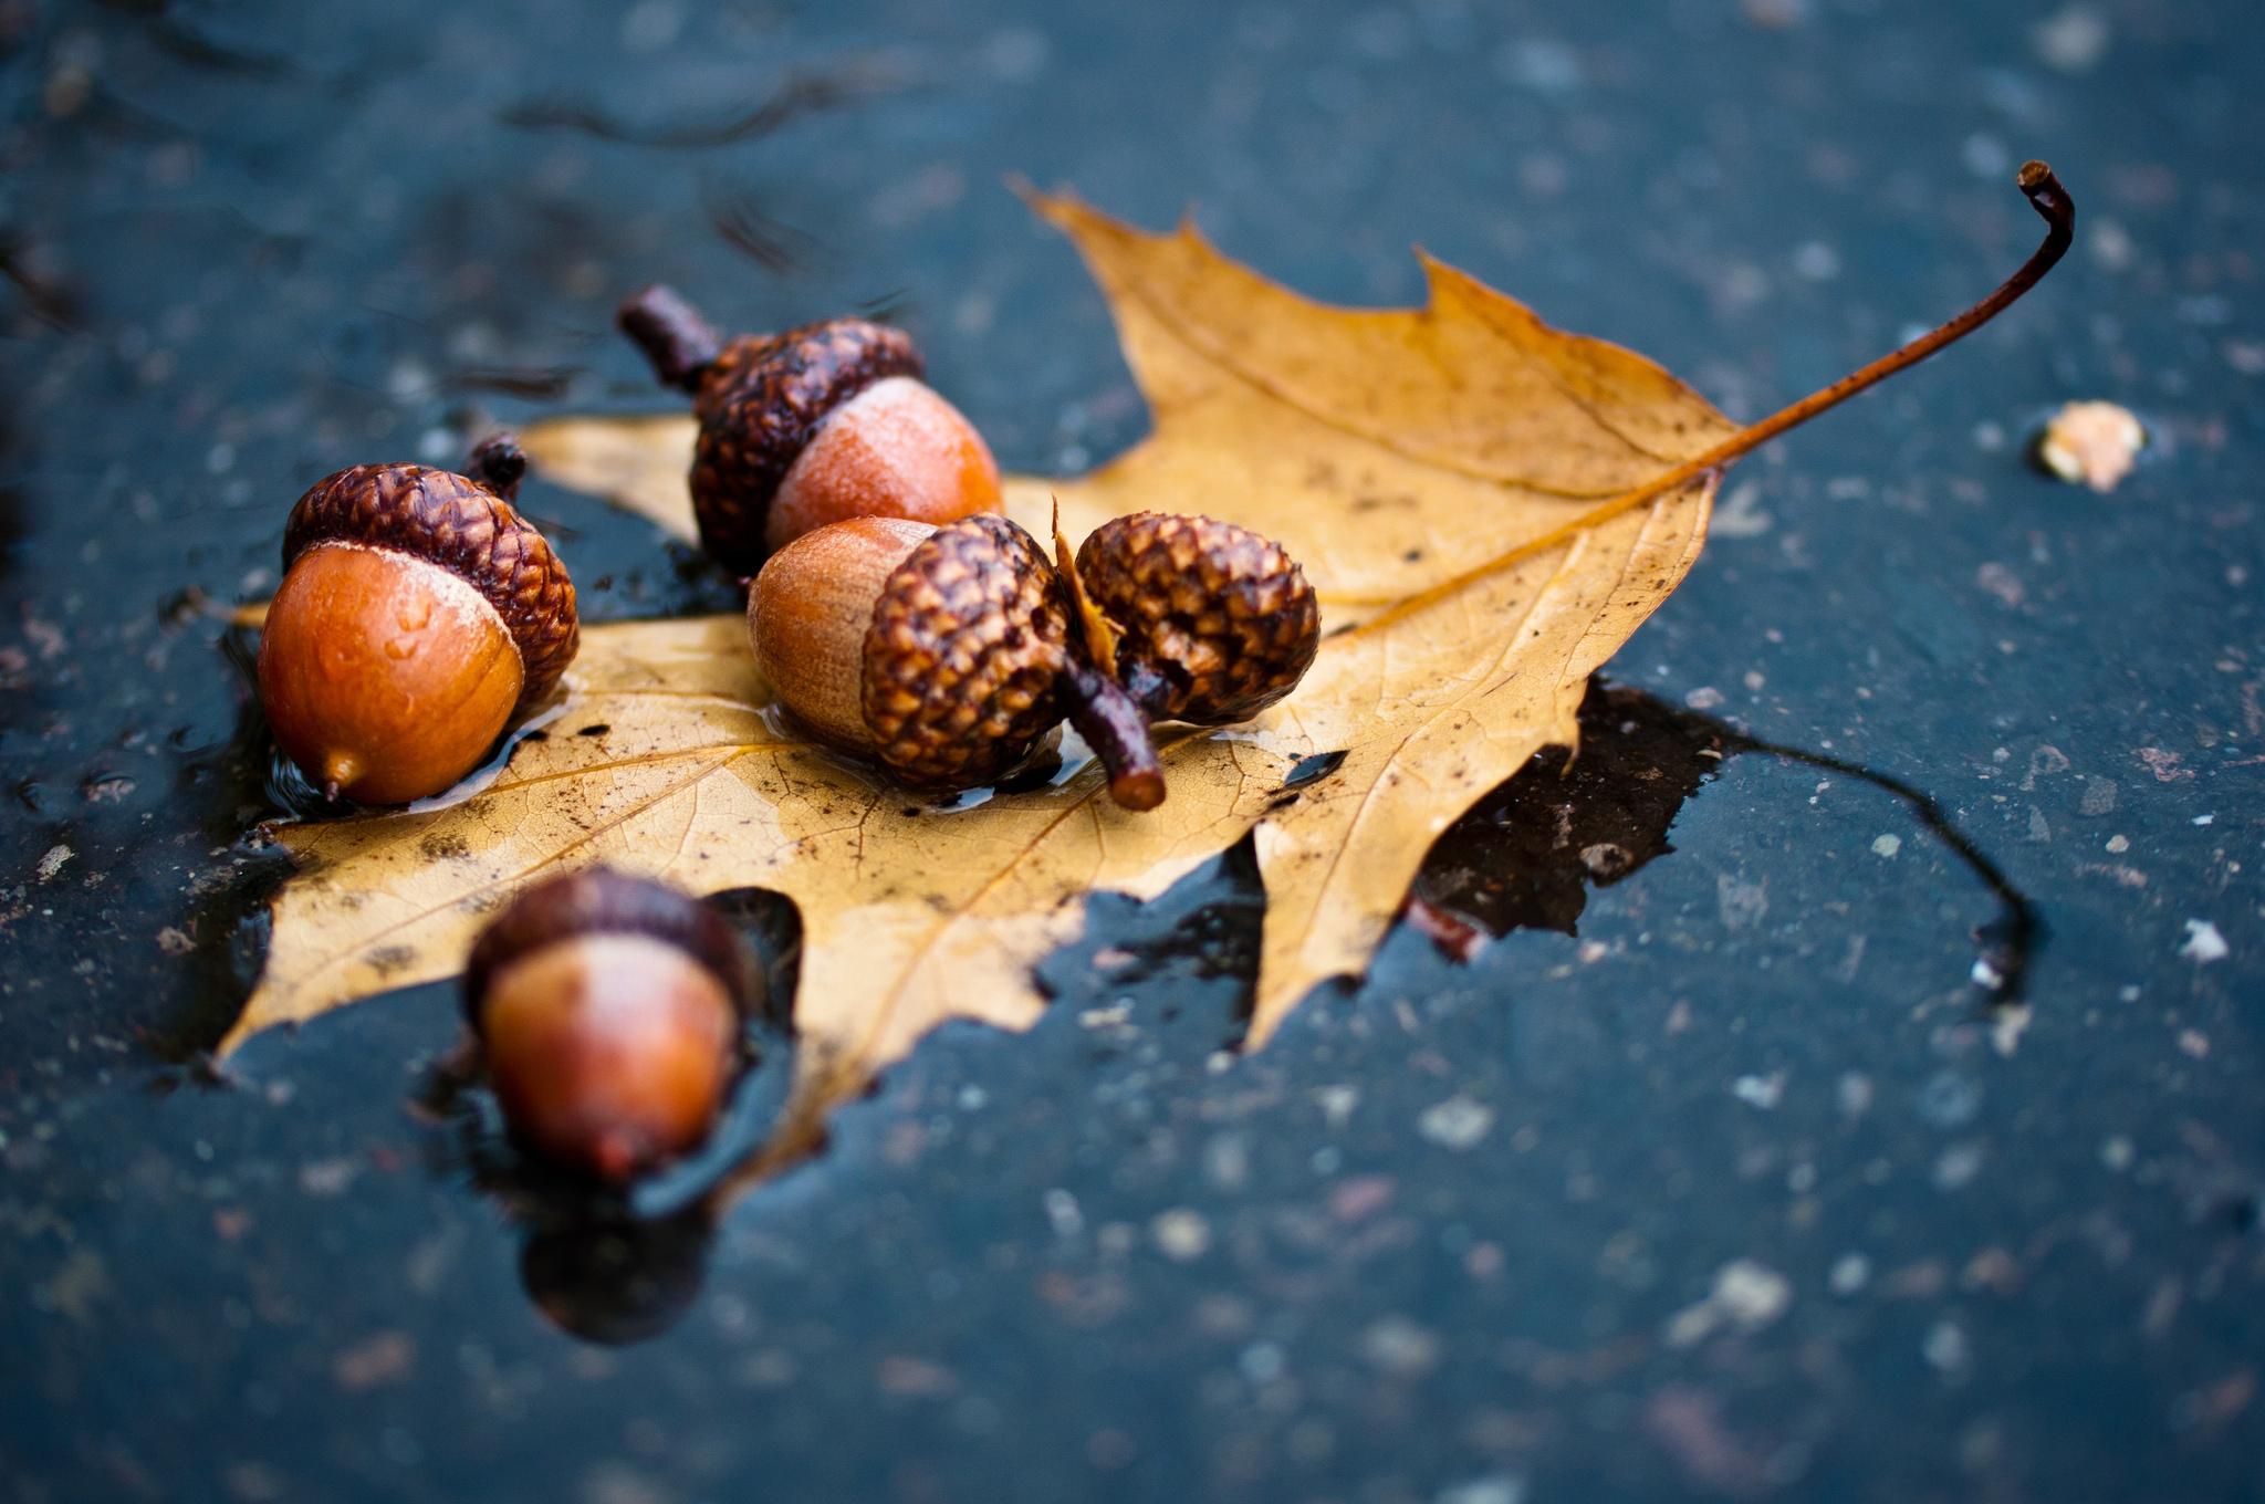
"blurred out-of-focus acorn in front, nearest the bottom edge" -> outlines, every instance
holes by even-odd
[[[761,979],[716,911],[607,868],[528,888],[464,965],[512,1139],[630,1180],[707,1139]]]

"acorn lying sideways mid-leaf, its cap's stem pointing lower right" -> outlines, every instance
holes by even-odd
[[[1069,716],[1108,768],[1110,797],[1164,800],[1148,723],[1083,661],[1053,562],[1006,516],[818,528],[763,564],[747,634],[788,711],[913,788],[994,784]]]

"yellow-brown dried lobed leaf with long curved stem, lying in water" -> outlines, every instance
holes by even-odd
[[[544,738],[426,813],[288,824],[301,872],[226,1046],[458,969],[482,917],[562,865],[802,908],[804,1128],[942,1019],[1031,1024],[1031,965],[1099,890],[1153,897],[1255,831],[1268,906],[1250,1042],[1366,967],[1431,840],[1542,745],[1576,738],[1590,670],[1683,580],[1719,467],[1982,322],[2066,247],[2054,224],[1991,301],[1810,403],[1735,428],[1649,360],[1567,335],[1427,260],[1429,304],[1343,310],[1277,288],[1194,229],[1151,236],[1035,197],[1117,315],[1155,433],[1076,480],[1012,480],[1042,537],[1139,507],[1277,537],[1330,636],[1259,720],[1166,736],[1169,800],[1126,813],[1071,759],[1051,786],[940,809],[797,741],[738,616],[593,627]],[[525,433],[544,473],[691,537],[689,419]],[[224,1046],[224,1049],[226,1049]]]

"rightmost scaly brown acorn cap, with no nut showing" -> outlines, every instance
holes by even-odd
[[[1320,648],[1305,571],[1268,537],[1210,516],[1135,512],[1078,548],[1078,580],[1117,627],[1117,677],[1157,720],[1246,720]]]

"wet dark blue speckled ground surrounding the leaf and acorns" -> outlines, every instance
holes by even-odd
[[[2265,1495],[2260,29],[0,0],[0,1497]],[[1416,299],[1420,242],[1760,417],[2011,270],[2025,156],[2068,263],[1733,471],[1583,770],[1427,872],[1468,960],[1404,929],[1237,1056],[1230,854],[716,1223],[498,1160],[444,985],[195,1067],[279,881],[220,607],[331,469],[675,405],[636,285],[881,313],[1006,467],[1078,471],[1146,415],[1024,174],[1332,301]],[[2070,399],[2149,428],[2113,494],[2025,458]],[[591,621],[734,607],[525,505]],[[1633,865],[1549,868],[1561,811]],[[2025,1010],[1948,834],[2043,917]]]

